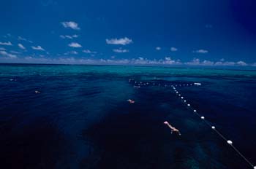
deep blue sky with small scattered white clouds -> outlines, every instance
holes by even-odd
[[[1,1],[0,63],[256,66],[255,0]]]

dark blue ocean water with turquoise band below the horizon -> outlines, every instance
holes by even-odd
[[[165,84],[202,83],[177,89],[256,164],[255,77],[193,68],[1,65],[1,168],[251,168]],[[135,88],[129,79],[149,85]],[[165,120],[181,136],[171,135]]]

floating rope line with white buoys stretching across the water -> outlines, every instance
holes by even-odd
[[[133,79],[129,79],[129,82],[132,82],[132,81],[134,81],[134,80],[133,80]],[[135,87],[135,88],[140,88],[140,86],[142,86],[142,85],[144,85],[144,86],[149,86],[150,84],[152,84],[152,86],[161,86],[160,83],[157,84],[157,83],[155,83],[155,82],[146,82],[146,83],[143,83],[143,82],[136,82],[136,81],[135,81],[134,87]],[[214,125],[211,124],[211,122],[208,122],[208,121],[206,120],[206,117],[201,116],[200,114],[198,114],[198,113],[197,113],[197,110],[196,110],[196,109],[193,109],[192,106],[191,106],[191,104],[190,104],[190,103],[187,103],[187,101],[184,99],[184,96],[182,96],[181,93],[178,92],[178,90],[176,90],[176,87],[182,87],[182,86],[189,87],[189,86],[200,86],[200,85],[201,85],[201,83],[196,83],[196,82],[195,82],[195,83],[190,83],[190,84],[164,84],[163,86],[164,86],[164,87],[172,87],[173,90],[174,90],[174,93],[176,93],[176,95],[178,95],[178,98],[181,99],[181,102],[182,102],[182,103],[184,103],[184,104],[187,105],[187,108],[188,108],[188,109],[192,110],[192,112],[193,112],[194,114],[196,114],[198,117],[200,117],[200,119],[202,119],[203,122],[206,123],[206,125],[208,125],[209,127],[211,127],[211,129],[214,130],[215,133],[217,133],[217,135],[219,135],[220,138],[222,138],[224,141],[226,141],[227,144],[229,144],[229,145],[234,149],[234,151],[235,151],[242,159],[244,159],[253,169],[256,169],[256,165],[252,165],[252,162],[249,162],[249,160],[246,159],[246,157],[244,157],[244,155],[241,154],[241,152],[240,152],[238,149],[236,149],[236,146],[233,145],[233,141],[228,140],[224,135],[222,135],[222,133],[220,133],[219,130],[217,130],[217,128],[216,128]]]

